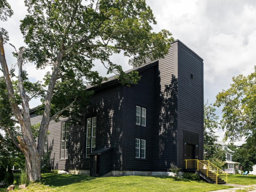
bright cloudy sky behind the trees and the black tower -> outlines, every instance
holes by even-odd
[[[10,43],[16,47],[24,46],[19,30],[20,20],[27,10],[23,0],[8,0],[14,15],[0,26],[8,30]],[[239,0],[147,0],[147,4],[157,20],[154,31],[162,28],[173,33],[175,39],[181,40],[204,59],[204,96],[205,101],[213,103],[216,94],[227,89],[231,78],[239,74],[248,75],[256,65],[256,1]],[[12,57],[13,48],[5,45],[8,65],[15,64]],[[128,58],[115,55],[113,60],[120,63],[124,70],[130,69]],[[33,64],[26,64],[32,81],[42,80],[45,70],[36,70]],[[101,65],[95,69],[102,75],[106,70]],[[30,107],[39,104],[31,101]],[[219,115],[221,110],[217,109]],[[222,139],[223,131],[217,135]],[[238,142],[237,144],[241,144]]]

